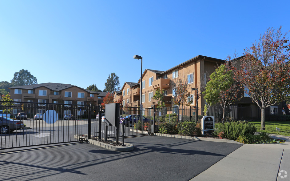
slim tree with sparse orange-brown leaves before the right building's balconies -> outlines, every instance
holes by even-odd
[[[182,106],[183,111],[183,107],[185,106],[185,103],[187,103],[187,98],[190,96],[190,93],[188,92],[188,82],[181,78],[170,79],[170,82],[173,86],[174,96],[176,97],[173,99],[173,102],[178,105],[177,114],[179,115],[180,106]]]

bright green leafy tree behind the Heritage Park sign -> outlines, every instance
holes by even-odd
[[[219,66],[209,76],[210,81],[205,87],[204,99],[209,104],[209,107],[216,103],[220,104],[223,109],[223,123],[226,107],[240,99],[238,97],[240,87],[238,83],[234,81],[233,70],[229,69],[230,68],[224,64]],[[208,109],[208,107],[206,108]]]

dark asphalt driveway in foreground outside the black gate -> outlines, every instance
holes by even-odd
[[[125,142],[134,150],[77,143],[1,154],[1,180],[189,180],[241,146],[161,136]]]

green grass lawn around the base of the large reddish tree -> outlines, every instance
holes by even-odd
[[[261,131],[260,121],[251,121],[257,126],[257,131]],[[276,131],[276,127],[280,128],[280,131]],[[275,135],[290,136],[290,121],[266,121],[265,132]]]

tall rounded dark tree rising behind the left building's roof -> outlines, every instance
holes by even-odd
[[[13,86],[25,86],[37,84],[37,78],[30,74],[28,70],[19,70],[15,72],[14,78],[11,80]]]

